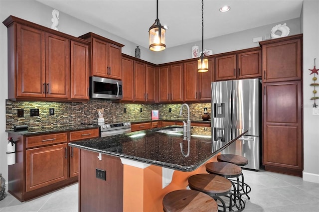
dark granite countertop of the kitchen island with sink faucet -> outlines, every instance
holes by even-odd
[[[212,139],[214,138],[214,134],[211,132],[210,127],[193,126],[191,129],[189,156],[185,157],[183,154],[187,154],[188,145],[187,140],[183,140],[182,132],[179,134],[157,132],[171,127],[172,126],[161,127],[109,137],[87,139],[71,142],[68,145],[187,172],[197,169],[247,132],[244,131],[233,140],[221,141],[221,139]],[[174,127],[181,126],[176,125]],[[183,154],[179,143],[182,143]]]

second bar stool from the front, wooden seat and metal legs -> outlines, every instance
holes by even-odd
[[[223,212],[226,212],[226,204],[221,199],[222,196],[229,195],[229,211],[232,209],[232,183],[221,176],[211,174],[196,174],[188,178],[188,186],[192,190],[203,192],[215,200],[219,200],[223,207]]]

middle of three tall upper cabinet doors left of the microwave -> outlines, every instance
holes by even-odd
[[[70,41],[45,33],[46,97],[70,97]]]

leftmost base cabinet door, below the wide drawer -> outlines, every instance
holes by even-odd
[[[66,151],[66,143],[25,150],[26,192],[66,180]]]

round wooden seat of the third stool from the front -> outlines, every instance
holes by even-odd
[[[226,178],[238,177],[241,175],[241,168],[227,162],[210,162],[206,164],[206,171],[210,174],[221,175]]]

